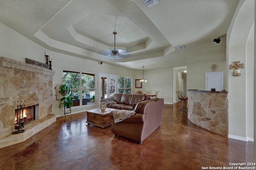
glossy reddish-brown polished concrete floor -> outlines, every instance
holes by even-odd
[[[59,119],[23,143],[0,149],[1,170],[201,170],[252,162],[253,143],[222,137],[164,105],[161,126],[142,145],[87,125],[86,113]]]

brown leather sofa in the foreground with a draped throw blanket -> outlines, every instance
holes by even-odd
[[[139,102],[134,111],[135,115],[114,123],[113,111],[109,116],[113,120],[111,131],[115,136],[122,136],[142,144],[161,124],[164,99],[154,98],[150,101]]]

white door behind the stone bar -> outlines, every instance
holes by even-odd
[[[215,88],[215,91],[223,90],[223,72],[205,73],[205,90],[211,91],[211,88]]]

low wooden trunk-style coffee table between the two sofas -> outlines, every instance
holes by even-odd
[[[106,108],[105,111],[101,109],[93,109],[86,111],[87,112],[87,121],[88,125],[92,124],[98,127],[105,128],[109,125],[112,125],[112,119],[109,117],[109,113],[116,109]]]

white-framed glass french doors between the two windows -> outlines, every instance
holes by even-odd
[[[117,90],[117,76],[99,73],[99,104],[100,100],[113,96]]]

